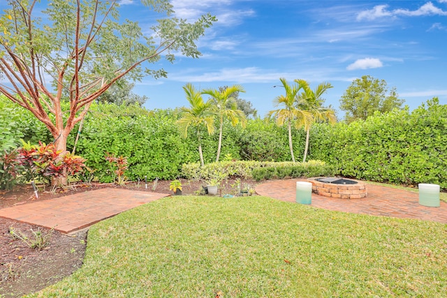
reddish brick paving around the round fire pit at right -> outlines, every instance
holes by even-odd
[[[303,179],[272,180],[256,186],[256,193],[295,202],[296,182]],[[419,204],[418,193],[397,188],[367,184],[368,195],[362,199],[337,199],[312,193],[312,206],[343,212],[391,216],[397,218],[415,218],[424,221],[447,223],[447,203],[441,207],[425,207]]]

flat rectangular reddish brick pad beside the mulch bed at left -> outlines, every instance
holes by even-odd
[[[102,188],[75,195],[0,209],[0,217],[71,233],[105,218],[168,196],[121,188]]]

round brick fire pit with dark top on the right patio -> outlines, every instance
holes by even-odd
[[[314,177],[307,181],[312,182],[312,191],[317,195],[341,199],[361,199],[367,195],[366,184],[346,178]]]

